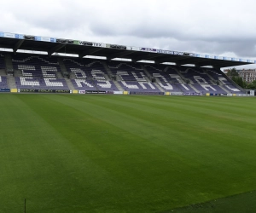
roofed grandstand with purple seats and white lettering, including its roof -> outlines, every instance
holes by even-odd
[[[245,94],[246,91],[221,72],[220,67],[255,62],[3,32],[0,33],[0,48],[11,49],[11,52],[0,53],[0,87],[17,91],[57,89],[77,93]],[[22,53],[24,49],[29,53]],[[32,49],[44,53],[34,54]],[[77,57],[68,55],[71,53]],[[88,55],[97,58],[88,58]],[[99,57],[105,57],[105,60]],[[153,60],[151,62],[154,63],[141,60]],[[186,66],[188,64],[195,66]]]

